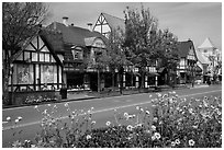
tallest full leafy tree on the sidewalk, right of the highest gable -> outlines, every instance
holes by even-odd
[[[141,12],[130,10],[125,13],[125,42],[124,47],[130,61],[139,69],[141,88],[144,88],[144,77],[146,67],[155,62],[155,51],[157,47],[158,21],[154,18],[149,9],[142,7]]]

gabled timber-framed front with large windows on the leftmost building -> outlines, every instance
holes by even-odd
[[[33,37],[27,47],[20,51],[11,67],[9,91],[13,94],[13,102],[19,99],[18,94],[26,100],[24,95],[27,92],[31,94],[37,91],[55,91],[63,85],[63,65],[41,35]]]

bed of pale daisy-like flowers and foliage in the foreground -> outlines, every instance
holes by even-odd
[[[114,109],[115,124],[107,122],[103,128],[93,128],[93,108],[72,112],[66,103],[69,123],[45,109],[42,131],[35,141],[15,141],[12,147],[221,148],[221,97],[214,96],[187,100],[179,99],[175,92],[158,94],[152,100],[150,108],[136,106],[136,114],[121,115]],[[54,105],[51,111],[56,109]],[[123,125],[122,120],[130,124]]]

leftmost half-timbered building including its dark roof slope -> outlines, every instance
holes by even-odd
[[[9,91],[14,97],[12,99],[13,104],[29,103],[24,101],[37,100],[36,96],[47,100],[55,99],[54,94],[46,97],[43,95],[47,95],[46,91],[54,92],[63,85],[63,62],[60,60],[63,45],[58,38],[58,33],[40,30],[38,34],[27,39],[26,46],[18,51],[11,65],[12,71],[9,78]],[[51,43],[54,39],[57,43]],[[45,91],[44,94],[43,91]],[[30,97],[31,95],[33,97]]]

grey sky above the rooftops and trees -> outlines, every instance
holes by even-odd
[[[126,7],[141,10],[138,2],[48,2],[53,21],[68,23],[88,28],[87,23],[96,24],[101,12],[124,19]],[[206,37],[219,49],[222,49],[222,2],[142,2],[145,9],[158,19],[159,28],[169,28],[179,42],[193,41],[194,47],[200,46]]]

